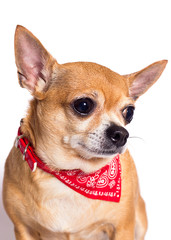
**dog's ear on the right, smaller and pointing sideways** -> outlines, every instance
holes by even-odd
[[[126,75],[130,97],[136,100],[144,94],[158,80],[167,62],[167,60],[155,62],[139,72]]]

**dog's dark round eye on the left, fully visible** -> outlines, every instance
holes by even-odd
[[[88,115],[95,107],[95,103],[90,98],[80,98],[73,102],[73,109],[80,115]]]

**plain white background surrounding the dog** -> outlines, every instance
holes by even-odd
[[[127,74],[171,61],[169,0],[49,0],[0,3],[0,188],[5,158],[29,93],[18,84],[13,51],[17,24],[31,30],[59,63],[92,61]],[[171,67],[136,105],[129,131],[149,228],[146,240],[171,239]],[[15,174],[15,173],[14,173]],[[21,173],[22,174],[22,173]],[[0,189],[1,191],[1,189]],[[0,200],[0,233],[14,240]]]

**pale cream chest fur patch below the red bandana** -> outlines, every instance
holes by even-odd
[[[50,231],[74,233],[104,218],[101,201],[76,193],[56,178],[41,181],[39,186],[41,208],[34,218]]]

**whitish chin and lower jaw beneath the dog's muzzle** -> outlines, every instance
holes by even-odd
[[[110,158],[117,154],[122,154],[126,150],[126,144],[122,147],[113,147],[112,149],[96,149],[89,148],[86,145],[79,144],[79,148],[77,149],[80,157],[84,159],[92,159],[92,158]]]

